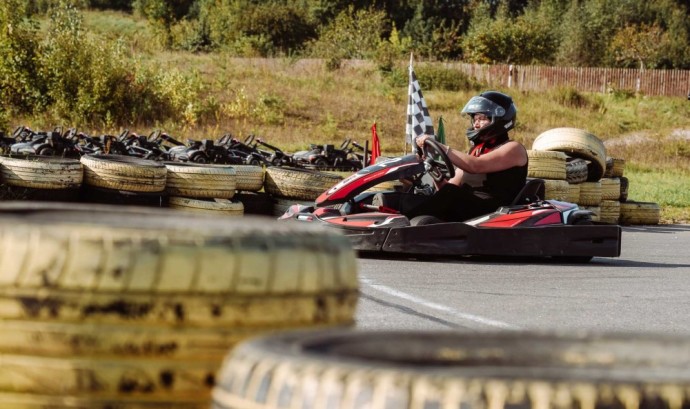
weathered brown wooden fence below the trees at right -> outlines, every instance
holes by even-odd
[[[631,91],[690,97],[690,71],[446,63],[488,85],[526,91],[570,86],[583,92]]]

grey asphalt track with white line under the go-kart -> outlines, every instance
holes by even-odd
[[[623,228],[619,258],[360,258],[357,329],[690,335],[690,225]]]

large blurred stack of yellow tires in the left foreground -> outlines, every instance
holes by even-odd
[[[0,203],[0,406],[208,408],[247,338],[347,327],[349,240],[306,223]]]

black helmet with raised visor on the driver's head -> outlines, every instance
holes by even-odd
[[[484,114],[491,118],[491,123],[483,128],[474,129],[473,124],[467,129],[467,139],[473,144],[513,129],[517,108],[513,99],[506,94],[496,91],[482,92],[472,97],[461,111],[474,118],[475,114]],[[472,119],[473,120],[473,119]]]

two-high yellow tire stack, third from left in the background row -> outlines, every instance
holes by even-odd
[[[237,172],[229,165],[166,162],[165,193],[168,207],[223,216],[244,215],[244,205],[233,201]]]

